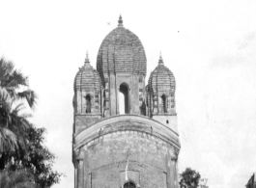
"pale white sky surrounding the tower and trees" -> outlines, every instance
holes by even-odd
[[[256,172],[256,1],[0,0],[0,56],[29,75],[40,96],[33,122],[47,128],[54,169],[67,175],[53,188],[73,188],[75,73],[86,50],[96,67],[120,13],[144,45],[147,77],[160,51],[176,77],[180,173],[191,167],[211,188],[244,187]]]

